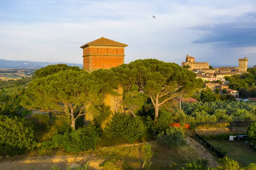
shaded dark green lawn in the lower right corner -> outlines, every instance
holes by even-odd
[[[223,148],[227,151],[226,156],[231,158],[242,166],[256,162],[256,152],[249,143],[244,141],[208,141],[215,148]]]

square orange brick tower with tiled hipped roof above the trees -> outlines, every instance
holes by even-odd
[[[90,43],[84,44],[83,49],[84,70],[110,69],[124,63],[124,43],[101,37]]]

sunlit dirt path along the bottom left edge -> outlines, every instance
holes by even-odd
[[[77,167],[89,162],[89,170],[99,169],[103,159],[91,155],[83,156],[33,156],[18,158],[4,158],[0,161],[0,170],[49,170],[52,166],[66,170],[68,167]],[[89,161],[90,160],[90,161]]]

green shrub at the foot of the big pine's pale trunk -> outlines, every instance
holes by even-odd
[[[160,133],[163,130],[166,130],[172,124],[172,115],[169,112],[162,111],[159,114],[157,120],[152,120],[150,116],[148,116],[148,127],[155,133]]]

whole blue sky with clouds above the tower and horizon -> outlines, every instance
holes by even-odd
[[[156,18],[153,18],[154,15]],[[256,65],[255,0],[0,0],[0,59],[82,63],[106,37],[125,63],[186,55],[213,66]]]

